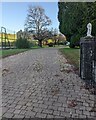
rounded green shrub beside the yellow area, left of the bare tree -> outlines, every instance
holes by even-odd
[[[19,49],[26,49],[26,48],[30,48],[30,42],[27,39],[17,39],[16,41],[16,47]]]

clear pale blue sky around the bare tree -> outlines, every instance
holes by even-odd
[[[2,23],[0,25],[9,31],[24,30],[24,23],[28,13],[28,6],[41,6],[45,9],[45,14],[52,20],[53,28],[59,26],[58,3],[57,2],[2,2]]]

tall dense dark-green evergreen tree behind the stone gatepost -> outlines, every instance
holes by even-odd
[[[58,2],[59,30],[67,40],[75,42],[86,36],[86,26],[92,23],[92,35],[96,36],[96,2]]]

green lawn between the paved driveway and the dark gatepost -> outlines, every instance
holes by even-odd
[[[60,51],[70,64],[73,64],[77,69],[79,69],[80,62],[79,48],[61,48]]]

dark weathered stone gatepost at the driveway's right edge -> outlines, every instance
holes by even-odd
[[[88,34],[80,39],[80,77],[96,83],[96,38]]]

